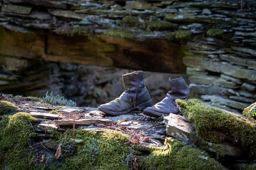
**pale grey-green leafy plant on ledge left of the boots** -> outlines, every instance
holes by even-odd
[[[67,100],[64,96],[54,96],[52,92],[51,94],[48,94],[48,91],[45,94],[45,97],[42,98],[42,100],[51,105],[67,105],[71,107],[76,107],[76,102],[73,102],[72,100]]]

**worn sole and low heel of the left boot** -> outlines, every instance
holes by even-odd
[[[148,102],[142,103],[140,105],[137,105],[137,106],[135,106],[133,108],[130,108],[127,111],[123,111],[123,112],[108,111],[108,110],[106,110],[104,108],[101,108],[101,107],[98,107],[98,110],[102,111],[104,113],[107,113],[108,115],[118,116],[118,115],[122,115],[122,114],[128,114],[128,113],[130,113],[131,111],[133,111],[135,109],[138,109],[139,111],[143,111],[145,108],[151,107],[152,105],[153,104],[152,104],[152,101],[150,99],[150,100],[148,100]]]

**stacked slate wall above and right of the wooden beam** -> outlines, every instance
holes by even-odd
[[[192,97],[236,111],[256,101],[256,1],[3,0],[0,6],[0,25],[9,30],[179,42]]]

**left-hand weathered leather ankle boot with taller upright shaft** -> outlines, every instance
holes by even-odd
[[[99,111],[110,115],[127,114],[135,109],[143,111],[152,106],[150,95],[143,82],[143,72],[134,71],[122,75],[125,85],[125,92],[121,96],[109,103],[100,105]]]

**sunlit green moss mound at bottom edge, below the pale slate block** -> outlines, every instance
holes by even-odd
[[[150,170],[222,170],[223,167],[199,149],[184,145],[182,142],[166,138],[165,148],[155,148],[142,165]]]

